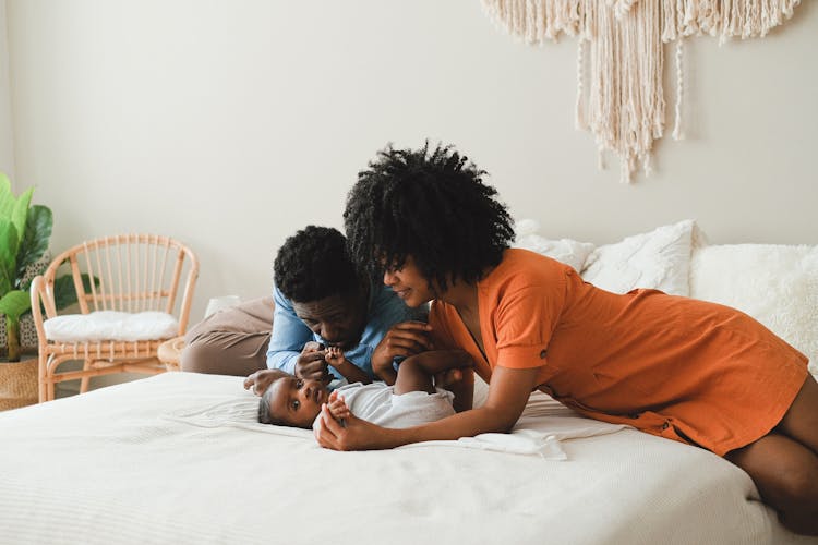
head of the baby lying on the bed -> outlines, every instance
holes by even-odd
[[[258,401],[258,422],[312,429],[328,398],[329,389],[324,383],[282,372]]]

